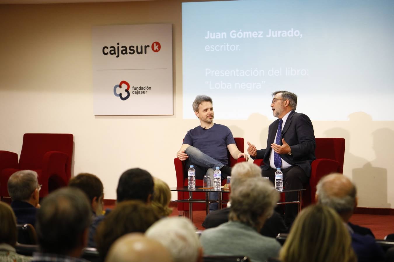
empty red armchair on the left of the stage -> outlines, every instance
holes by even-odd
[[[24,134],[19,162],[17,154],[0,150],[0,197],[9,196],[7,181],[18,170],[37,172],[40,197],[67,185],[73,147],[72,134]]]

